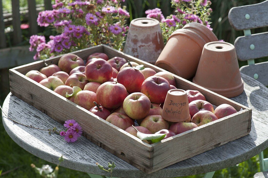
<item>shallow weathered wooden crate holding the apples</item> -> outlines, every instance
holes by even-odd
[[[76,51],[73,54],[86,59],[88,55],[95,52],[104,52],[109,58],[123,57],[150,67],[156,72],[164,71],[105,45]],[[59,58],[60,56],[57,56],[45,61],[48,64],[57,64]],[[211,104],[216,106],[230,104],[239,112],[149,145],[25,76],[28,71],[40,70],[42,67],[44,62],[36,61],[10,69],[12,94],[59,123],[64,123],[67,119],[76,119],[90,141],[146,173],[157,171],[243,137],[251,130],[251,109],[174,75],[178,88],[199,90]],[[243,110],[240,111],[241,108]]]

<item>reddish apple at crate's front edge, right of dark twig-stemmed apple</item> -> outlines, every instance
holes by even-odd
[[[134,125],[134,120],[128,117],[128,115],[123,113],[114,112],[111,113],[110,116],[106,119],[107,122],[126,130],[126,128]]]

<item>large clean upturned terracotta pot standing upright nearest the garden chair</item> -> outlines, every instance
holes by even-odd
[[[204,46],[193,82],[225,97],[235,97],[244,90],[235,47],[226,42]]]

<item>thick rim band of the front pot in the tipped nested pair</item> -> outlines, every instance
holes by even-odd
[[[184,35],[188,37],[189,39],[195,41],[195,43],[198,44],[201,49],[203,49],[204,45],[206,44],[206,41],[200,35],[189,29],[177,29],[169,36],[168,40],[175,35]]]

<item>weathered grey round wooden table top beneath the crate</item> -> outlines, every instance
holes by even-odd
[[[59,135],[50,136],[45,131],[14,124],[2,114],[3,124],[9,136],[28,152],[55,164],[63,155],[61,166],[78,171],[109,175],[99,170],[95,163],[107,166],[107,162],[115,162],[115,177],[177,177],[211,172],[243,162],[268,147],[268,89],[247,75],[241,76],[244,92],[232,100],[252,109],[250,134],[151,174],[140,171],[84,137],[75,143],[66,143]],[[5,99],[3,112],[18,122],[35,127],[63,128],[46,114],[11,94]]]

